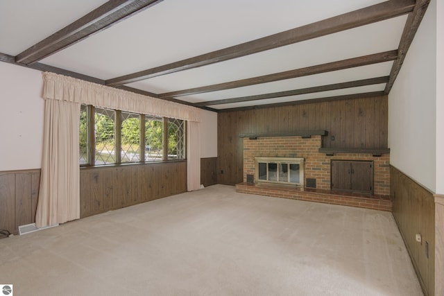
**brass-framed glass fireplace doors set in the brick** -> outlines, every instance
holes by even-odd
[[[259,178],[259,164],[266,164],[266,179]],[[275,170],[270,174],[270,164]],[[291,164],[299,165],[299,182],[291,182]],[[285,168],[287,165],[287,169]],[[262,166],[264,167],[264,166]],[[287,180],[282,181],[282,177]],[[302,157],[255,157],[255,182],[264,184],[282,184],[291,186],[304,186],[304,158]]]

